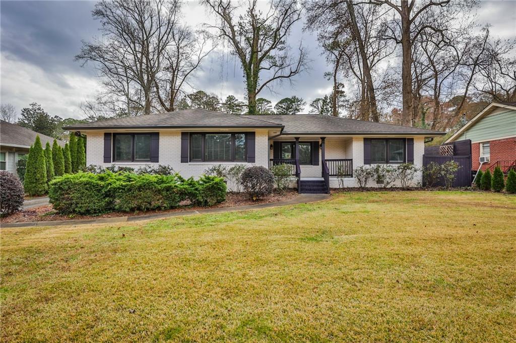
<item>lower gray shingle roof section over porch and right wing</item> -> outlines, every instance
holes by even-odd
[[[243,116],[252,117],[252,116]],[[445,133],[417,127],[375,123],[342,117],[297,115],[297,116],[263,116],[266,120],[285,126],[283,134],[411,134],[444,135]]]

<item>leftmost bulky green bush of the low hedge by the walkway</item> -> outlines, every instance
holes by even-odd
[[[65,174],[50,182],[49,198],[54,209],[63,215],[98,215],[109,212],[113,199],[106,181],[114,174]]]

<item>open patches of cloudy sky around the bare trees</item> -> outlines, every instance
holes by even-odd
[[[91,67],[83,68],[73,59],[82,40],[99,35],[99,23],[91,17],[93,6],[94,2],[85,1],[0,1],[2,103],[14,105],[19,112],[37,102],[51,115],[85,117],[80,104],[94,98],[100,83]],[[212,20],[204,7],[193,1],[185,5],[183,13],[192,26]],[[494,36],[516,37],[516,0],[481,2],[477,15],[480,23],[492,25]],[[295,94],[310,102],[330,92],[330,81],[323,76],[329,70],[325,58],[302,24],[290,38],[293,46],[299,41],[309,50],[310,70],[297,76],[292,86],[277,85],[273,93],[260,96],[275,102]],[[234,94],[244,98],[241,70],[223,47],[219,54],[206,58],[194,86],[220,97]]]

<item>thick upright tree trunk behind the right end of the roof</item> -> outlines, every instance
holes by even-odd
[[[414,95],[412,93],[412,43],[410,38],[410,9],[408,0],[401,0],[401,83],[402,103],[401,125],[411,125],[410,118],[414,112]]]

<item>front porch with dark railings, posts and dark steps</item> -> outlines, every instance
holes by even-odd
[[[352,137],[279,137],[270,144],[269,169],[292,166],[299,193],[330,193],[330,180],[353,177],[352,142]]]

